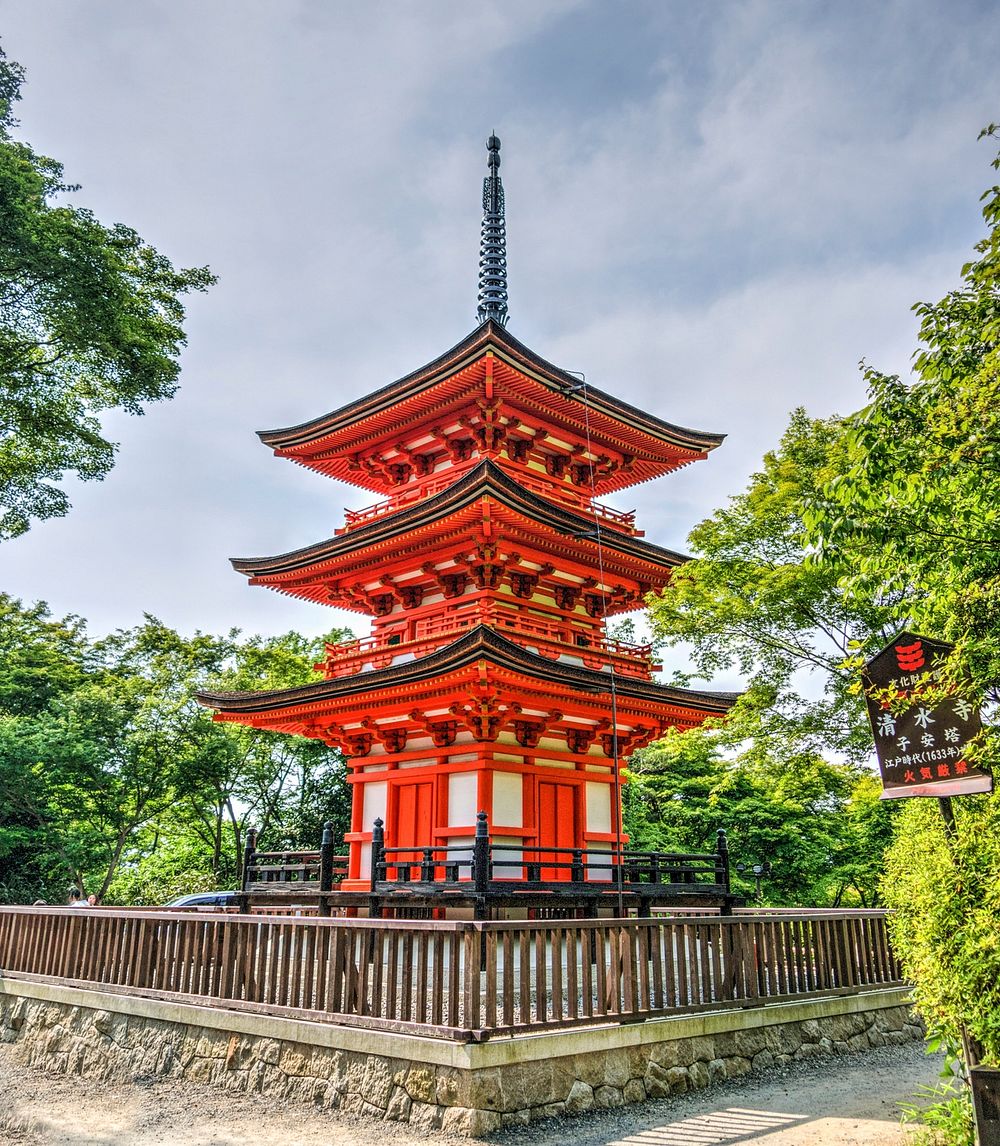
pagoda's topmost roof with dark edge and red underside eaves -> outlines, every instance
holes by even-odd
[[[586,424],[596,444],[617,441],[630,448],[627,452],[636,452],[639,469],[605,481],[605,488],[624,488],[669,472],[704,457],[725,439],[725,434],[663,422],[589,383],[584,387],[578,377],[541,358],[491,319],[432,362],[367,397],[299,425],[258,431],[258,437],[276,453],[302,465],[354,485],[378,488],[349,466],[351,455],[359,446],[399,438],[402,426],[440,417],[442,407],[458,399],[468,385],[467,377],[456,376],[485,359],[488,352],[542,387],[537,395],[544,399],[553,425],[561,422],[578,430]],[[432,390],[434,402],[428,406],[427,394]]]

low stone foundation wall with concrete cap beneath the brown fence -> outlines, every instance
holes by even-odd
[[[450,1044],[0,980],[0,1041],[38,1069],[187,1078],[470,1137],[922,1037],[898,990]]]

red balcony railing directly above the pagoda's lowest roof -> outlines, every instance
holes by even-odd
[[[517,644],[536,650],[540,657],[549,660],[582,664],[585,668],[598,670],[613,668],[622,676],[643,680],[648,680],[662,668],[653,660],[651,644],[632,644],[613,638],[588,638],[586,644],[581,644],[582,634],[568,626],[521,617],[501,615],[485,620],[478,611],[458,617],[427,618],[417,623],[412,639],[408,641],[389,643],[386,636],[370,636],[328,644],[325,660],[314,667],[328,681],[353,676],[367,669],[389,668],[394,664],[426,657],[477,625],[487,625]]]

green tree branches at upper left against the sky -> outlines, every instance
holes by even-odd
[[[215,281],[62,202],[62,165],[11,136],[23,79],[0,52],[0,539],[63,516],[64,474],[109,472],[102,411],[174,394],[181,296]]]

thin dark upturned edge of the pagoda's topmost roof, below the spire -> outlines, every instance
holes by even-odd
[[[510,354],[515,360],[513,366],[527,367],[540,382],[568,391],[568,393],[564,392],[566,398],[574,397],[574,392],[578,391],[580,379],[577,377],[541,358],[523,343],[518,342],[505,327],[489,319],[432,362],[372,391],[364,398],[348,402],[346,406],[323,414],[318,418],[310,418],[299,425],[277,430],[259,430],[258,437],[266,446],[281,450],[291,450],[296,446],[322,440],[338,430],[348,429],[362,418],[370,417],[412,394],[419,393],[434,382],[457,372],[486,353],[487,350],[494,350],[501,355]],[[726,437],[725,434],[691,430],[671,422],[664,422],[590,384],[586,386],[586,395],[591,408],[600,409],[607,416],[624,421],[644,433],[691,449],[694,453],[716,449]]]

